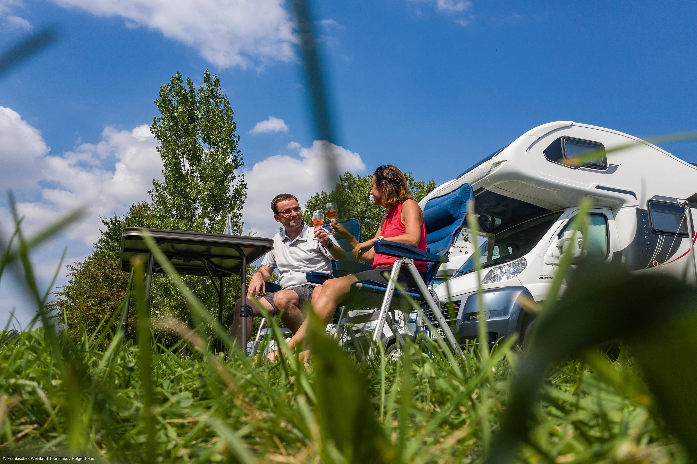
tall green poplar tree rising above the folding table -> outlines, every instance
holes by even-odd
[[[160,87],[155,105],[162,116],[153,118],[150,130],[159,142],[163,180],[153,179],[148,193],[158,226],[220,233],[229,213],[233,231],[241,233],[247,183],[235,174],[243,155],[220,80],[206,70],[197,92],[177,72]]]

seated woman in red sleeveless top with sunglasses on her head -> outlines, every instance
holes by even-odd
[[[344,238],[353,247],[353,256],[356,259],[372,264],[373,269],[358,274],[351,274],[345,277],[337,277],[326,281],[317,290],[312,298],[315,313],[322,318],[325,323],[334,315],[337,306],[348,298],[351,291],[351,284],[358,280],[373,280],[388,283],[388,277],[397,258],[385,254],[376,253],[373,244],[376,240],[390,240],[392,242],[404,243],[426,250],[426,226],[424,226],[424,215],[420,206],[409,194],[406,178],[396,167],[388,164],[378,167],[373,174],[372,190],[373,203],[376,206],[385,207],[388,212],[383,217],[375,233],[375,238],[367,242],[359,243],[344,226],[332,223],[331,228],[339,237]],[[428,263],[424,261],[414,261],[416,268],[422,274],[427,270]],[[404,265],[403,265],[404,266]],[[386,274],[386,276],[385,276]],[[422,276],[423,277],[423,276]],[[404,267],[399,272],[397,282],[404,288],[413,288],[416,283],[411,273]],[[302,323],[298,332],[293,335],[288,345],[293,348],[298,343],[302,343],[307,331],[307,319]],[[275,353],[268,355],[269,359],[275,358]],[[309,350],[300,353],[300,359],[306,360],[309,357]]]

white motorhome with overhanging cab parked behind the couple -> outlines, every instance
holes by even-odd
[[[629,146],[612,152],[613,148]],[[589,153],[575,166],[565,160]],[[606,153],[610,151],[610,153]],[[482,288],[489,341],[529,334],[533,317],[519,297],[544,300],[559,263],[564,234],[584,198],[592,200],[583,237],[589,256],[639,272],[668,272],[694,282],[691,217],[697,208],[697,166],[615,130],[572,121],[535,127],[438,187],[425,203],[469,183],[480,225]],[[682,203],[684,204],[684,203]],[[694,215],[695,208],[692,214]],[[690,221],[687,223],[686,218]],[[464,231],[464,237],[469,238]],[[477,273],[471,240],[450,250],[435,291],[451,301],[449,324],[461,339],[477,335]],[[693,239],[694,243],[694,239]],[[420,330],[424,329],[419,323]]]

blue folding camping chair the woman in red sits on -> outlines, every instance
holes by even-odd
[[[438,274],[438,268],[441,263],[447,263],[447,253],[450,247],[457,240],[462,227],[464,226],[465,216],[467,212],[467,203],[473,199],[472,187],[469,184],[461,185],[457,190],[448,192],[441,196],[436,196],[430,199],[424,206],[424,223],[426,225],[426,242],[428,252],[403,245],[389,240],[377,240],[374,244],[376,253],[387,254],[399,258],[395,261],[390,274],[389,284],[381,284],[380,282],[370,280],[360,280],[351,286],[351,294],[349,295],[349,303],[358,303],[368,307],[379,307],[380,314],[377,319],[374,332],[376,342],[381,341],[383,334],[383,326],[387,312],[392,309],[401,309],[408,306],[406,295],[413,300],[421,302],[427,306],[427,311],[431,311],[436,316],[438,325],[443,330],[447,342],[456,352],[460,353],[461,349],[457,343],[450,326],[447,325],[441,308],[436,304],[434,297],[431,295],[429,288],[433,287]],[[344,260],[337,261],[336,274],[348,268],[355,269],[354,272],[360,270],[372,269],[371,266],[361,263],[344,263]],[[425,281],[419,274],[414,261],[426,261],[429,267],[426,272]],[[414,277],[418,287],[406,288],[404,292],[395,289],[395,281],[399,277],[401,265],[406,265],[409,272]],[[344,274],[345,275],[345,274]],[[308,276],[308,280],[309,280]],[[337,275],[337,277],[339,277]],[[332,277],[324,275],[323,278],[330,279]],[[390,327],[392,324],[390,323]],[[392,328],[392,332],[395,329]],[[399,335],[395,334],[399,339]]]

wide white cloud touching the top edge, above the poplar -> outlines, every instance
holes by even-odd
[[[221,68],[293,61],[293,24],[284,0],[53,0],[100,17],[123,17],[199,49]]]

